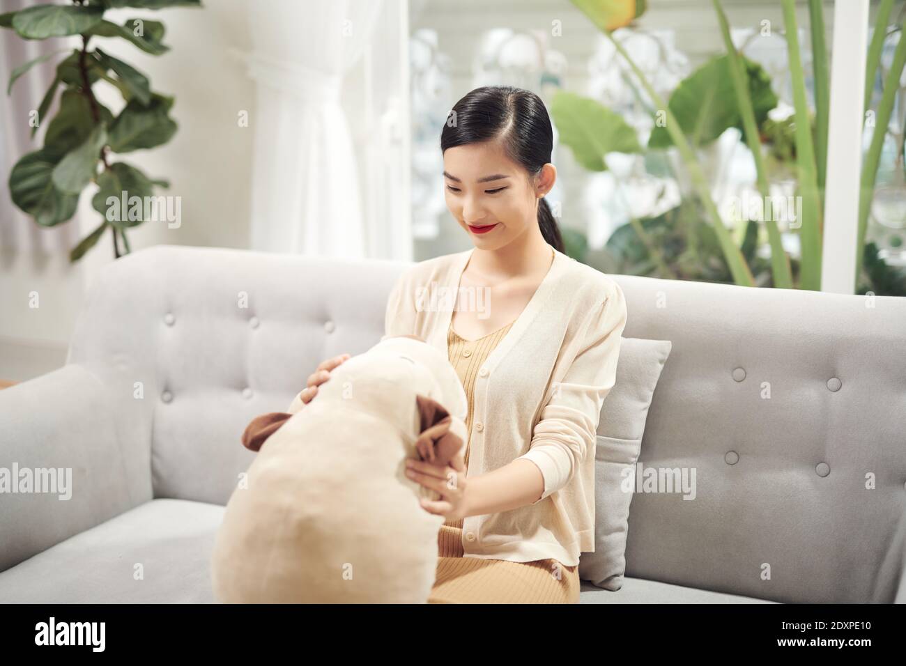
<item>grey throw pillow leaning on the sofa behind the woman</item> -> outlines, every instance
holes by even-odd
[[[669,340],[623,338],[611,392],[598,424],[594,464],[594,551],[579,557],[579,576],[619,590],[626,571],[626,535],[632,492],[623,489],[641,451],[641,437]]]

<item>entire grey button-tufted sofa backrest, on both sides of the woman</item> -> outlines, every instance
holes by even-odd
[[[247,422],[285,410],[317,363],[377,343],[405,268],[150,247],[97,277],[68,362],[115,364],[122,400],[142,401],[155,497],[226,504],[255,455],[239,442]],[[624,337],[673,343],[640,468],[695,470],[694,499],[637,489],[626,574],[892,601],[906,557],[906,299],[612,277]]]

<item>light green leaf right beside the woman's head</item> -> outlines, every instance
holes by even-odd
[[[635,130],[619,113],[597,101],[558,91],[551,112],[560,140],[573,150],[575,159],[585,169],[606,170],[604,155],[609,152],[641,152]]]

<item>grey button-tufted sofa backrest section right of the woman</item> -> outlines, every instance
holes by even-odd
[[[891,602],[906,565],[906,298],[613,277],[623,336],[673,343],[636,478],[696,482],[694,499],[637,487],[626,575]]]

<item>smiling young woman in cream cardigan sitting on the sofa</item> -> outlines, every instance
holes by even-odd
[[[626,323],[619,285],[564,254],[544,103],[512,87],[459,100],[440,137],[445,196],[474,247],[411,266],[387,304],[386,336],[447,352],[468,398],[465,455],[410,461],[445,517],[429,603],[577,603],[594,549],[594,452]],[[455,305],[450,303],[455,294]],[[446,300],[445,300],[446,297]],[[439,305],[440,304],[440,305]],[[349,357],[323,362],[300,393]]]

